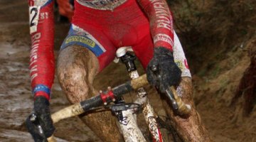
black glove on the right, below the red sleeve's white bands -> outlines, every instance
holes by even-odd
[[[154,57],[146,67],[147,80],[162,93],[181,80],[181,70],[174,62],[174,56],[166,48],[154,48]]]

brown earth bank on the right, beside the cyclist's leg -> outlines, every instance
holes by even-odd
[[[242,97],[230,104],[250,65],[248,50],[256,46],[255,6],[247,0],[171,2],[193,73],[196,107],[215,141],[256,141],[255,108],[244,117]]]

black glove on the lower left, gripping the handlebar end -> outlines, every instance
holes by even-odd
[[[36,142],[46,141],[55,131],[49,106],[50,103],[45,97],[36,97],[33,112],[26,119],[26,127]]]

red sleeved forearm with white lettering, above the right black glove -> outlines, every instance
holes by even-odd
[[[138,0],[149,17],[154,47],[164,47],[173,51],[173,19],[165,0]]]

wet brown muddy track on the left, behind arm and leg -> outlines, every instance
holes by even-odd
[[[23,121],[33,109],[28,70],[27,1],[0,1],[0,19],[0,141],[32,141],[23,126]],[[58,28],[66,29],[56,34],[63,38],[68,25],[60,24]],[[60,45],[60,38],[55,39],[56,45]],[[57,83],[53,86],[53,94],[56,94],[51,100],[53,111],[69,105]],[[68,141],[99,141],[77,118],[60,122],[56,127],[55,135]]]

